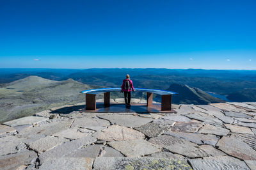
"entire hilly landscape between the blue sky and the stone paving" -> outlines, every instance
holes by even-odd
[[[226,99],[256,102],[256,70],[0,68],[0,121],[28,116],[58,105],[84,102],[80,91],[119,88],[127,73],[135,88],[177,91],[179,95],[173,95],[176,104],[207,104]],[[120,97],[123,97],[122,93],[111,93],[111,98]],[[223,100],[216,97],[223,97]],[[146,94],[132,93],[132,98],[145,99]],[[161,97],[154,95],[154,100],[160,102]]]

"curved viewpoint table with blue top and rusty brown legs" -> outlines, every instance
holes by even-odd
[[[154,107],[153,104],[153,93],[161,95],[161,111],[172,111],[172,95],[177,94],[173,91],[165,91],[159,89],[142,89],[134,88],[136,92],[147,93],[147,107]],[[121,91],[121,88],[101,88],[101,89],[88,89],[81,91],[86,94],[86,111],[96,111],[96,95],[104,93],[104,107],[110,107],[110,92]]]

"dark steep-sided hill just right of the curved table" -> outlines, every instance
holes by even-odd
[[[189,87],[186,84],[172,84],[168,91],[175,91],[179,95],[173,95],[174,104],[211,104],[225,102],[220,98],[212,97],[199,88]]]

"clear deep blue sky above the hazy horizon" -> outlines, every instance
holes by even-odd
[[[256,69],[256,1],[0,1],[0,68]]]

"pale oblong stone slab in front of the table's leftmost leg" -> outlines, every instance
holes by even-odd
[[[74,127],[108,127],[110,125],[108,120],[102,120],[99,118],[77,118],[72,124]]]

